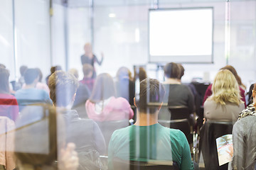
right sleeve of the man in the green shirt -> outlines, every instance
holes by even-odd
[[[181,166],[180,169],[194,169],[193,162],[191,159],[191,152],[188,145],[188,140],[183,132],[179,131],[179,138],[181,142]]]

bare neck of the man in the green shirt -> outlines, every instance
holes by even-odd
[[[158,123],[158,111],[156,113],[139,113],[137,111],[137,120],[134,125],[149,126]]]

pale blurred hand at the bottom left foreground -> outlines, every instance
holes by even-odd
[[[75,144],[68,143],[65,149],[60,151],[60,164],[58,169],[76,170],[78,169],[78,153],[75,152]]]

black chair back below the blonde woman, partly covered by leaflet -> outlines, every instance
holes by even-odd
[[[232,134],[232,122],[208,120],[203,124],[200,134],[199,149],[203,154],[206,169],[228,169],[228,163],[219,166],[216,139],[223,135]]]

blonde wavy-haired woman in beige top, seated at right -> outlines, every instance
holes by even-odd
[[[215,76],[213,94],[203,105],[207,120],[238,120],[239,113],[245,108],[240,100],[238,81],[228,69],[221,69]]]

